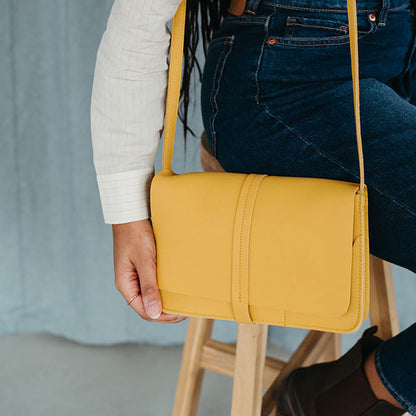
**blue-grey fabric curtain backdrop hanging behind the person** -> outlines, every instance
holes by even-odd
[[[113,284],[89,125],[95,57],[112,4],[0,0],[0,334],[49,332],[89,344],[184,340],[188,321],[143,321]],[[199,89],[194,94],[192,128],[200,134]],[[182,132],[178,121],[174,170],[201,170],[199,141],[188,136],[184,160]],[[397,266],[394,276],[404,328],[416,320],[416,279]],[[272,342],[289,350],[304,333],[270,330]],[[236,324],[217,321],[214,336],[235,340]],[[344,337],[344,346],[357,336]]]

